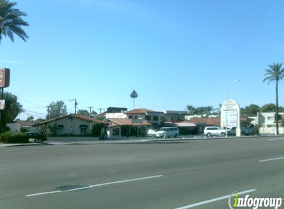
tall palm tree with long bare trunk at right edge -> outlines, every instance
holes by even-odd
[[[282,63],[273,63],[271,65],[268,65],[270,69],[265,69],[266,73],[264,76],[266,76],[263,79],[263,82],[268,81],[268,84],[270,82],[275,83],[276,82],[276,134],[279,134],[278,130],[278,113],[279,113],[279,107],[278,107],[278,82],[283,79],[284,77],[284,68],[282,68]]]

